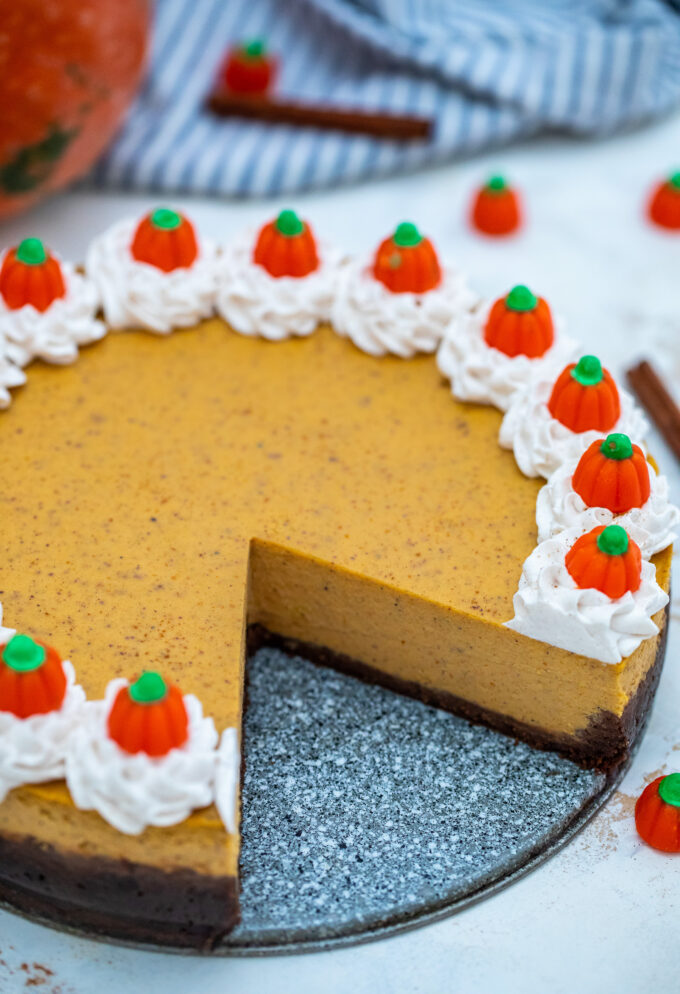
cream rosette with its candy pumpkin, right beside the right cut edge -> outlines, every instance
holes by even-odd
[[[620,663],[658,633],[654,615],[668,595],[652,563],[619,525],[560,532],[522,568],[506,626],[560,649]]]

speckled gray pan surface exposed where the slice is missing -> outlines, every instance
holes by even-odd
[[[556,848],[611,786],[274,649],[248,664],[245,760],[242,922],[224,952],[427,920]]]

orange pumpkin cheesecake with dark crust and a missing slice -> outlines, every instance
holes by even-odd
[[[70,661],[98,721],[110,700],[111,735],[114,708],[164,699],[155,677],[127,683],[156,671],[218,735],[239,730],[247,648],[276,642],[584,765],[626,761],[660,672],[670,548],[641,563],[640,590],[663,596],[645,601],[652,634],[619,661],[509,626],[529,603],[516,598],[543,481],[499,446],[501,412],[453,398],[432,354],[370,355],[328,325],[266,341],[211,319],[109,334],[28,379],[0,415],[0,620]],[[593,555],[630,553],[632,577],[639,556],[611,533],[624,529],[603,528]],[[567,541],[558,530],[538,548]],[[596,592],[632,604],[638,580]],[[15,644],[5,665],[29,649]],[[237,812],[225,819],[217,799],[121,829],[76,806],[69,762],[68,782],[24,783],[0,803],[0,897],[119,938],[212,948],[238,919]]]

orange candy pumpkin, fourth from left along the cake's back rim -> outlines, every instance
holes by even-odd
[[[415,224],[403,221],[378,246],[373,275],[392,293],[427,293],[441,282],[437,253]]]

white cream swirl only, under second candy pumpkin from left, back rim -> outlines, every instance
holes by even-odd
[[[166,335],[210,317],[217,291],[215,242],[197,238],[194,263],[166,273],[133,259],[130,245],[139,220],[118,221],[92,241],[86,254],[85,270],[97,286],[108,326]]]

